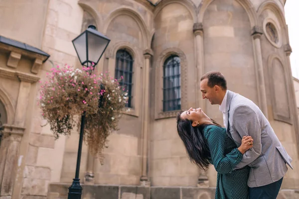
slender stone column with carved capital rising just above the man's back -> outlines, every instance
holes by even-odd
[[[265,88],[264,79],[264,68],[263,68],[263,58],[261,49],[261,35],[263,34],[262,28],[259,26],[254,26],[252,29],[252,36],[254,40],[254,57],[255,57],[255,69],[256,69],[256,81],[258,90],[258,100],[260,108],[264,115],[268,118],[268,107],[267,107],[267,96]]]

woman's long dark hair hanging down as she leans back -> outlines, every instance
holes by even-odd
[[[177,133],[185,145],[190,161],[199,168],[206,170],[210,165],[211,155],[209,147],[203,138],[202,130],[205,125],[193,127],[193,121],[180,118],[182,112],[179,112],[176,116]],[[214,120],[212,121],[215,125],[220,126]]]

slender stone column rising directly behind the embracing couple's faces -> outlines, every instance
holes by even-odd
[[[200,107],[205,111],[205,101],[201,97],[200,91],[200,78],[204,74],[204,56],[203,56],[203,26],[202,23],[194,23],[193,33],[195,35],[195,46],[196,46],[196,86],[195,86],[195,104],[196,108]],[[198,169],[198,182],[197,187],[207,188],[209,187],[209,179],[204,170]]]

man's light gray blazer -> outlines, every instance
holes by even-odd
[[[280,180],[288,171],[286,164],[293,169],[291,157],[253,101],[228,91],[225,118],[227,134],[238,147],[244,135],[250,135],[254,140],[253,148],[244,153],[235,168],[250,166],[249,187],[260,187]]]

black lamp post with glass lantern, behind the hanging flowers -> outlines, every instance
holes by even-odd
[[[94,25],[88,26],[88,28],[82,32],[73,41],[75,50],[81,65],[84,67],[94,67],[98,64],[100,58],[105,52],[110,39],[96,30]],[[92,71],[91,71],[92,72]],[[100,100],[99,100],[100,102]],[[68,199],[81,199],[82,187],[80,185],[79,171],[81,162],[81,151],[84,134],[84,122],[85,122],[85,111],[81,116],[81,127],[80,127],[80,138],[77,155],[76,174],[73,179],[72,185],[69,187]]]

